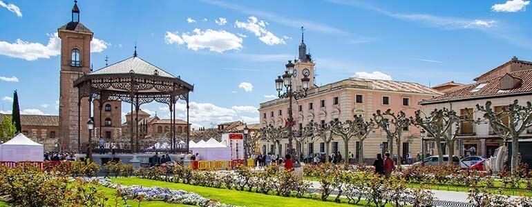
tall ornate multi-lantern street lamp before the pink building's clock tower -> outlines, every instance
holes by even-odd
[[[296,74],[294,73],[294,63],[292,61],[288,61],[288,63],[285,65],[286,70],[285,74],[282,76],[278,76],[277,79],[275,79],[275,88],[278,92],[279,98],[288,98],[289,99],[289,106],[288,106],[288,152],[294,157],[294,160],[298,161],[298,156],[296,155],[296,152],[294,150],[294,146],[292,146],[292,140],[294,139],[294,131],[292,130],[292,126],[294,126],[294,116],[292,115],[292,100],[293,99],[301,99],[303,97],[307,96],[307,90],[309,88],[309,82],[310,78],[308,77],[308,73],[303,72],[303,78],[301,79],[301,83],[303,85],[303,90],[294,90],[292,88],[292,80],[296,78]],[[281,78],[282,77],[282,78]],[[286,91],[281,94],[283,91],[283,85],[286,88]]]

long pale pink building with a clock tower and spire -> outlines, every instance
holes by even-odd
[[[296,88],[301,87],[301,74],[308,70],[310,88],[307,90],[307,97],[292,102],[294,115],[294,130],[300,130],[302,127],[313,120],[318,123],[328,123],[330,121],[345,121],[352,119],[354,115],[363,115],[365,119],[372,118],[377,110],[387,110],[391,108],[394,112],[403,110],[406,114],[414,116],[415,110],[421,108],[419,101],[431,99],[441,93],[428,88],[419,83],[410,83],[403,81],[385,81],[374,79],[348,78],[324,86],[314,85],[314,66],[310,55],[306,54],[306,46],[303,41],[299,46],[299,59],[295,62],[294,85]],[[283,126],[288,118],[288,99],[274,99],[260,103],[260,125],[261,126]],[[401,156],[406,157],[406,153],[412,152],[415,156],[421,151],[421,141],[419,138],[419,129],[415,127],[403,129],[403,143]],[[295,144],[295,142],[294,142]],[[348,143],[350,152],[357,157],[359,143],[356,138]],[[343,140],[335,138],[330,144],[329,152],[343,151]],[[375,129],[368,139],[364,141],[363,158],[372,160],[377,153],[386,152],[387,139],[386,132]],[[258,148],[260,152],[273,152],[273,143],[261,141]],[[276,146],[277,148],[277,146]],[[287,148],[287,139],[282,141],[281,152],[285,153]],[[278,150],[275,150],[277,154]],[[309,137],[303,141],[302,152],[305,157],[312,155],[314,152],[325,152],[325,144],[320,139]],[[397,154],[397,152],[395,152]],[[345,157],[346,155],[343,155]]]

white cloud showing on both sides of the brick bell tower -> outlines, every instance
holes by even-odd
[[[35,61],[39,58],[49,59],[61,54],[61,39],[57,36],[57,32],[47,35],[48,43],[46,46],[21,39],[17,39],[14,43],[0,41],[0,55]],[[111,46],[111,44],[101,39],[93,38],[91,52],[102,52],[108,46]]]

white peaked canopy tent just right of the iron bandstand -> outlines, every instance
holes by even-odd
[[[200,160],[231,160],[231,148],[216,139],[198,141],[198,144],[190,149],[194,154],[200,155]]]

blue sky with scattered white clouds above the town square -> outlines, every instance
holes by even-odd
[[[140,57],[195,84],[192,121],[208,127],[258,121],[255,108],[276,94],[274,78],[297,55],[301,26],[318,85],[354,75],[427,86],[470,83],[513,55],[532,60],[529,3],[80,0],[78,5],[80,21],[95,33],[95,69],[105,65],[105,56],[110,63],[131,57],[137,42]],[[73,1],[1,0],[0,6],[0,110],[10,110],[6,97],[16,89],[24,113],[57,115],[54,33],[70,21]],[[160,104],[144,109],[167,116]]]

